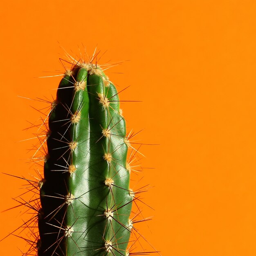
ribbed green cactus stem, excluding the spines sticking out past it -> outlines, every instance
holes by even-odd
[[[38,255],[128,255],[133,192],[126,123],[100,67],[65,72],[52,103],[38,211]]]

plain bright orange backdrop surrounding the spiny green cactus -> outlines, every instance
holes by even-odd
[[[101,52],[121,92],[128,130],[146,155],[139,231],[163,256],[256,255],[256,1],[6,1],[1,3],[1,171],[33,173],[34,101],[56,93],[58,58]],[[58,73],[54,71],[58,70]],[[122,74],[119,74],[122,73]],[[133,175],[134,180],[137,178]],[[0,175],[1,211],[24,182]],[[0,213],[0,239],[21,225]],[[11,236],[0,255],[21,255]],[[150,248],[150,246],[149,246]],[[151,249],[152,250],[152,249]]]

